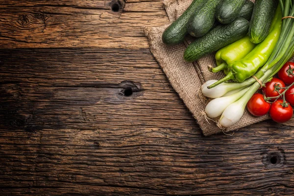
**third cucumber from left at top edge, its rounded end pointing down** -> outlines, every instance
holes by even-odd
[[[233,22],[245,4],[246,0],[223,0],[216,12],[216,18],[221,24]]]

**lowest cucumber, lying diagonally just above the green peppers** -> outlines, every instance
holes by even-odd
[[[184,59],[193,62],[207,54],[225,47],[248,33],[249,22],[244,18],[237,18],[228,25],[218,25],[203,37],[190,44],[184,53]]]

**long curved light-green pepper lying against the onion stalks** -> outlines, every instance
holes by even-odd
[[[222,82],[233,79],[237,82],[243,82],[245,79],[254,75],[269,60],[270,55],[279,39],[282,27],[282,13],[278,6],[274,19],[270,26],[270,34],[267,38],[259,43],[251,52],[243,59],[228,63],[227,75],[218,82],[210,85],[208,88],[213,88]]]

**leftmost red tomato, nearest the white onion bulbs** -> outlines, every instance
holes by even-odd
[[[248,111],[254,116],[263,116],[270,110],[270,103],[265,101],[263,95],[256,93],[247,103]]]

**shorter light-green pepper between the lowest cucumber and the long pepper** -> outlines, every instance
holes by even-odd
[[[255,46],[246,35],[244,38],[223,47],[215,56],[218,67],[211,69],[211,71],[216,73],[226,70],[228,64],[244,58]]]

